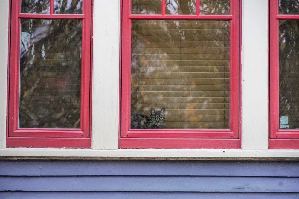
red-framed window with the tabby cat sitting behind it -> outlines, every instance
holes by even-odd
[[[240,148],[238,0],[123,0],[119,148]]]

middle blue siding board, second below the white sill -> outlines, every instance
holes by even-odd
[[[2,176],[0,191],[299,192],[299,178],[218,176]]]

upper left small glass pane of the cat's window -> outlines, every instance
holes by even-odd
[[[132,0],[132,14],[161,15],[161,0]]]

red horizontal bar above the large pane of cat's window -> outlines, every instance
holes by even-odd
[[[143,19],[143,20],[153,20],[153,19],[171,19],[171,20],[179,20],[179,19],[202,19],[202,20],[230,20],[233,19],[232,15],[129,15],[129,19]]]

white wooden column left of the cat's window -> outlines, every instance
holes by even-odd
[[[120,1],[94,1],[92,149],[118,149]]]

